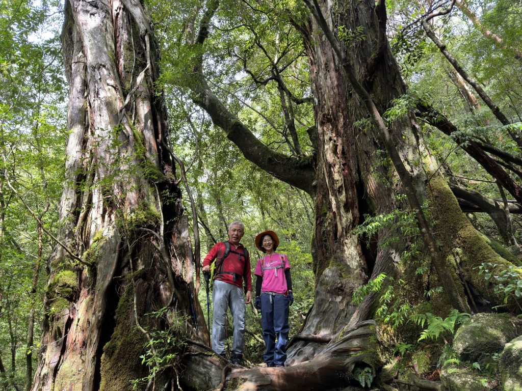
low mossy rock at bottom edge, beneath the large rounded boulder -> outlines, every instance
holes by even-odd
[[[465,365],[443,366],[441,383],[444,391],[485,391],[495,389],[496,386],[495,381]]]

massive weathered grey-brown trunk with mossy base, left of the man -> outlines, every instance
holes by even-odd
[[[32,389],[130,389],[147,375],[144,331],[188,315],[184,332],[208,336],[192,300],[187,219],[154,91],[159,53],[134,0],[67,0],[62,41],[70,84],[58,234],[65,246],[49,261]],[[145,315],[163,307],[167,321]]]

